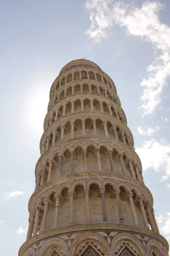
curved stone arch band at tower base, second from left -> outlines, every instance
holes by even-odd
[[[63,250],[63,255],[68,255],[68,246],[65,243],[64,240],[60,239],[60,238],[51,238],[48,239],[41,247],[41,249],[39,250],[37,256],[42,256],[45,255],[45,251],[48,250],[50,247],[56,247],[57,245],[59,245],[60,247],[62,247]]]

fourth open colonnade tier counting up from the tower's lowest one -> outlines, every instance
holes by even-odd
[[[86,113],[87,111],[104,113],[111,117],[113,116],[126,125],[125,113],[122,109],[117,108],[112,101],[102,98],[100,99],[94,95],[71,96],[68,97],[68,99],[58,102],[50,109],[50,111],[48,111],[44,120],[44,130],[60,117],[67,116],[70,113]]]

